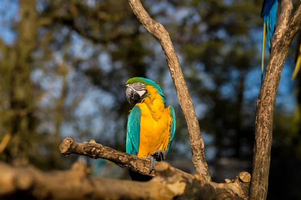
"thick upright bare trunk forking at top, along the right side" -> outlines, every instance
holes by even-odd
[[[257,99],[255,121],[255,142],[253,155],[253,171],[250,188],[250,199],[266,199],[270,151],[272,144],[273,114],[277,89],[284,61],[291,41],[301,26],[301,7],[298,6],[294,16],[287,24],[290,0],[282,0],[280,19],[277,23],[276,35],[273,37],[270,59]],[[281,21],[280,21],[281,20]]]

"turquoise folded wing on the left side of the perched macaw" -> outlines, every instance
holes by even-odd
[[[126,127],[126,152],[136,155],[140,139],[141,109],[135,105],[128,115]]]

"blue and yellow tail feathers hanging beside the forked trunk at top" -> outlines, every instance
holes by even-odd
[[[272,37],[275,32],[278,0],[263,0],[261,18],[263,18],[262,54],[261,54],[261,84],[263,81],[264,50],[267,37],[268,48],[271,51]]]

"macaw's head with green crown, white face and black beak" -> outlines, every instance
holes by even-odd
[[[166,102],[164,93],[160,87],[159,84],[154,82],[153,80],[143,78],[143,77],[133,77],[126,81],[126,91],[125,91],[125,98],[130,103],[130,99],[134,101],[134,104],[137,102],[141,102],[141,100],[147,96],[147,94],[150,91],[150,89],[155,89],[156,92],[158,92],[163,102]]]

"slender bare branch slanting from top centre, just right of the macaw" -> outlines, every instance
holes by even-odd
[[[187,121],[193,163],[198,173],[200,173],[206,180],[211,180],[205,158],[204,141],[201,136],[199,121],[181,70],[179,58],[174,49],[169,33],[161,23],[156,22],[149,16],[143,8],[140,0],[128,0],[128,2],[145,29],[151,33],[162,46],[176,87],[179,103]]]

